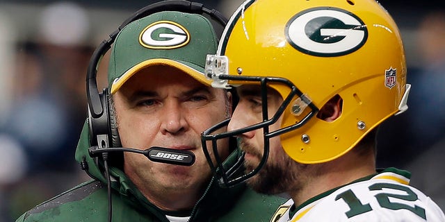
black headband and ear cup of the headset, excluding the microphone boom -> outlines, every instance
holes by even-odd
[[[119,28],[109,35],[109,38],[102,41],[102,43],[92,53],[90,64],[88,65],[86,76],[86,94],[88,99],[88,123],[90,130],[90,144],[92,146],[99,146],[100,148],[120,147],[120,137],[116,124],[114,123],[113,110],[109,103],[108,89],[105,88],[102,92],[97,89],[97,70],[99,62],[105,53],[111,49],[111,44],[119,32],[127,26],[127,24],[161,11],[179,11],[195,14],[209,15],[211,19],[221,24],[223,27],[227,24],[227,19],[215,9],[204,8],[202,3],[196,3],[185,0],[167,0],[153,3],[149,6],[141,8],[135,12],[131,17],[126,19]]]

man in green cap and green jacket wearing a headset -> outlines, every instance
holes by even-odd
[[[110,108],[110,130],[116,131],[111,148],[107,140],[95,142],[100,135],[91,133],[96,123],[90,114],[76,150],[76,160],[94,180],[17,221],[268,221],[284,201],[244,186],[221,189],[202,152],[200,133],[232,113],[230,92],[212,88],[203,74],[205,55],[216,46],[202,15],[156,12],[125,26],[111,51],[105,92],[110,101],[102,107]],[[219,155],[227,157],[229,141],[218,145]],[[167,148],[156,157],[195,159],[183,166],[137,153],[152,147]]]

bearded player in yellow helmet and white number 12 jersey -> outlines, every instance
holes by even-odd
[[[377,2],[245,1],[206,74],[239,103],[204,131],[203,150],[236,136],[245,153],[234,168],[207,153],[209,164],[225,186],[289,194],[272,221],[445,221],[409,172],[375,169],[378,126],[410,91],[401,36]]]

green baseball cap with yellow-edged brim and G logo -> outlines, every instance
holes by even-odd
[[[211,22],[198,14],[156,12],[131,22],[118,34],[108,66],[111,94],[145,67],[169,65],[204,85],[207,54],[215,54],[218,40]]]

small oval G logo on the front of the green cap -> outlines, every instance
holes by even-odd
[[[148,49],[176,49],[188,44],[190,33],[176,22],[149,24],[139,35],[139,42]]]

